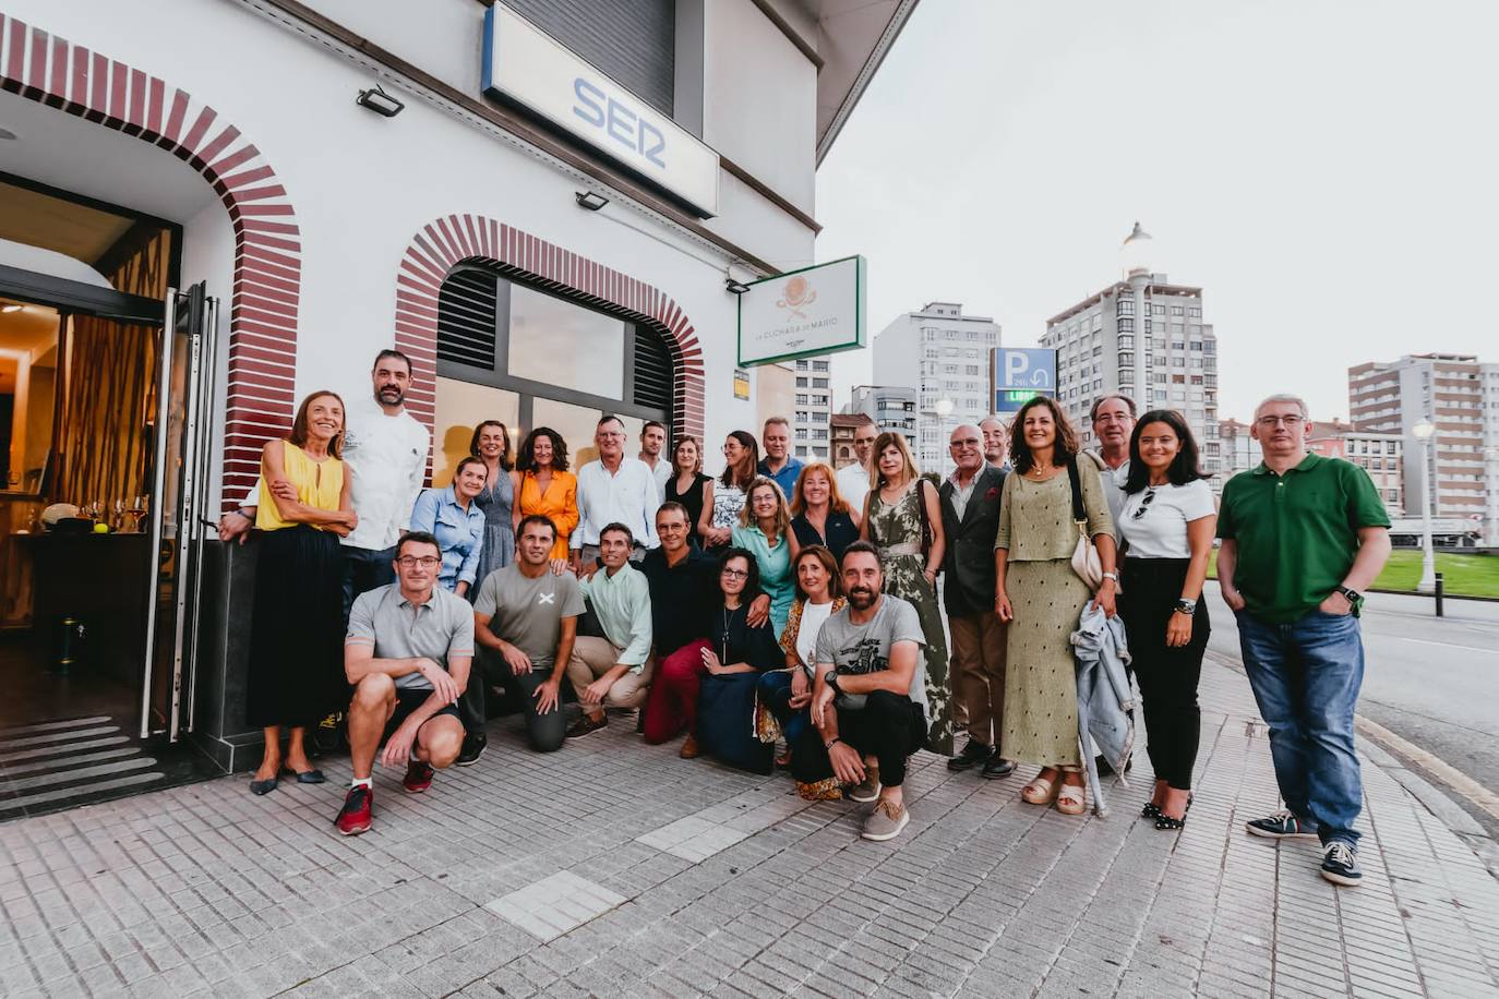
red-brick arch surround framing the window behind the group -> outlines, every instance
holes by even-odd
[[[396,346],[418,367],[411,413],[433,430],[438,292],[459,264],[483,264],[507,277],[558,292],[580,304],[661,333],[672,356],[675,434],[703,434],[703,349],[682,309],[651,285],[585,256],[522,232],[495,219],[451,214],[421,228],[400,261],[396,277]]]

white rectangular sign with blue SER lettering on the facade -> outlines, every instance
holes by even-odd
[[[484,12],[483,90],[718,214],[718,153],[501,3]]]

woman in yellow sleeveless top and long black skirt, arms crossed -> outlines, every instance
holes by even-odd
[[[282,762],[298,783],[322,783],[303,734],[348,702],[343,678],[343,563],[339,538],[358,518],[349,506],[343,400],[301,400],[291,434],[261,452],[255,526],[264,532],[255,569],[246,717],[265,729],[265,752],[250,791],[276,789]],[[280,729],[291,728],[282,756]]]

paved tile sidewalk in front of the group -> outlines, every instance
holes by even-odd
[[[1499,884],[1366,765],[1366,884],[1241,831],[1274,804],[1244,680],[1208,664],[1181,834],[1018,801],[914,761],[913,821],[805,804],[630,725],[550,756],[493,726],[478,765],[342,839],[342,789],[244,777],[0,825],[0,995],[1480,996]],[[346,777],[346,765],[328,767]],[[598,915],[595,915],[598,914]],[[567,929],[576,927],[576,929]],[[543,942],[550,938],[550,942]]]

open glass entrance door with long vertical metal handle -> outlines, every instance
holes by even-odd
[[[151,586],[141,738],[192,731],[195,619],[208,532],[208,464],[219,300],[204,285],[168,289],[157,352],[151,464]]]

